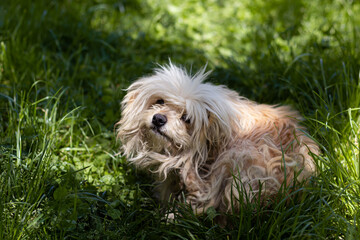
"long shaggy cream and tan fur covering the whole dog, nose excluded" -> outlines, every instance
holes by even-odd
[[[318,147],[296,111],[204,83],[208,75],[204,68],[190,76],[170,63],[135,81],[122,102],[117,136],[123,152],[155,175],[162,201],[183,193],[198,213],[208,207],[227,212],[239,184],[254,199],[260,185],[266,197],[285,179],[291,184],[314,173],[309,152],[317,154]],[[155,114],[166,123],[154,126]],[[238,204],[233,201],[235,210]]]

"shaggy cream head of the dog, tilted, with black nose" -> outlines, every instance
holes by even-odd
[[[239,96],[224,86],[203,83],[208,75],[203,68],[191,76],[170,63],[127,89],[117,133],[130,161],[146,165],[139,156],[148,153],[196,155],[194,159],[203,161],[211,149],[231,140],[240,127],[234,107]]]

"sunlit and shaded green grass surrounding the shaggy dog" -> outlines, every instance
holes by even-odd
[[[0,239],[359,239],[356,1],[2,1]],[[253,100],[290,104],[321,147],[318,174],[226,227],[170,204],[118,154],[114,124],[156,63]],[[239,190],[241,187],[239,186]]]

